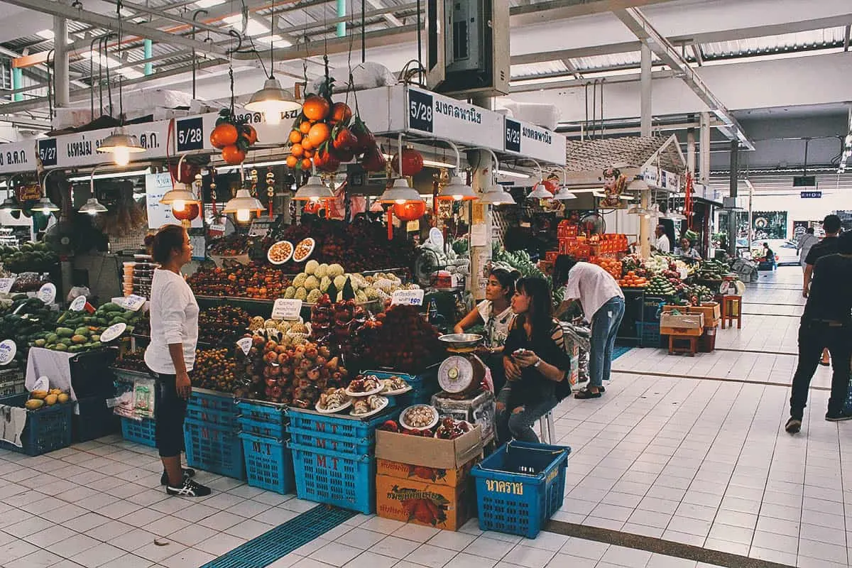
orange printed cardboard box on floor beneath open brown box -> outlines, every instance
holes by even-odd
[[[450,487],[389,475],[376,476],[376,514],[383,519],[458,531],[473,515],[473,496],[474,491],[467,483]]]

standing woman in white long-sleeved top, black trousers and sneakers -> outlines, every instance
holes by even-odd
[[[193,481],[192,469],[181,468],[183,419],[193,392],[189,371],[199,340],[199,305],[181,275],[183,265],[193,258],[193,246],[187,231],[177,225],[161,227],[153,238],[146,238],[146,244],[160,265],[151,283],[151,343],[145,350],[145,364],[157,377],[154,411],[164,468],[161,483],[169,495],[207,496],[210,488]]]

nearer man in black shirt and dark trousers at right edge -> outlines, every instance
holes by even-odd
[[[843,412],[849,389],[849,359],[852,358],[852,232],[835,238],[838,254],[815,261],[808,302],[805,304],[798,335],[798,366],[793,376],[790,420],[784,429],[797,433],[802,428],[810,380],[814,377],[820,353],[832,353],[832,394],[826,420],[852,419]],[[816,248],[816,247],[815,247]],[[813,250],[811,250],[813,253]]]

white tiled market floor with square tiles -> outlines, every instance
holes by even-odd
[[[779,353],[795,353],[797,270],[750,287],[743,329],[718,331],[727,350],[694,359],[632,350],[604,398],[558,407],[557,436],[573,454],[557,520],[803,568],[849,566],[852,426],[823,420],[828,393],[817,389],[803,433],[781,430],[796,357]],[[828,380],[820,369],[814,385]],[[212,496],[167,498],[160,472],[154,450],[118,436],[36,458],[0,450],[0,566],[192,568],[313,506],[203,472]],[[364,515],[272,566],[710,568],[548,532],[483,534],[471,521],[450,533]]]

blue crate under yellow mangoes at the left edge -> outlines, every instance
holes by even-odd
[[[0,399],[0,404],[23,407],[27,398],[26,393],[15,394]],[[27,410],[26,426],[20,433],[22,447],[0,440],[0,449],[27,456],[41,456],[49,451],[66,448],[71,445],[73,413],[72,403],[45,405],[38,410]]]

